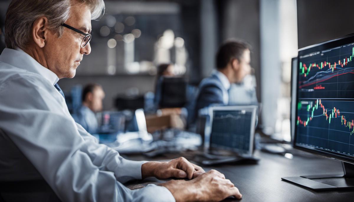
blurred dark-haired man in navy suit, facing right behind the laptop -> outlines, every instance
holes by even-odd
[[[229,105],[232,83],[240,83],[251,72],[250,45],[240,40],[227,41],[216,54],[216,71],[201,81],[195,104],[195,118],[199,110],[213,105]]]

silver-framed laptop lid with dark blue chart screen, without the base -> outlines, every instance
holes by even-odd
[[[228,150],[251,156],[257,106],[219,106],[210,108],[210,150]]]

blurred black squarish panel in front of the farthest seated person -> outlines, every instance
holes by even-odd
[[[161,86],[161,108],[183,107],[187,102],[187,80],[184,77],[164,77]]]

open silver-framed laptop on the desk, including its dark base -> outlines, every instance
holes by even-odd
[[[256,105],[210,107],[204,149],[199,161],[204,165],[251,161],[253,157]]]

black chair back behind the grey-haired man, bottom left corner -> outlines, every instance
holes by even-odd
[[[5,149],[6,148],[6,149]],[[16,165],[8,165],[6,160],[17,159]],[[32,202],[48,201],[60,202],[59,198],[47,182],[40,176],[32,163],[23,155],[15,143],[0,129],[0,169],[6,172],[21,173],[21,169],[26,169],[26,173],[33,173],[38,179],[22,180],[8,179],[6,176],[0,178],[0,201],[7,202]],[[14,170],[16,169],[16,170]],[[32,172],[33,171],[33,172]]]

